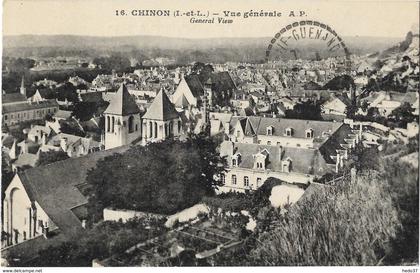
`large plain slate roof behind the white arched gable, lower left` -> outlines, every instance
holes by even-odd
[[[96,163],[114,153],[123,153],[129,146],[101,151],[87,156],[57,161],[19,173],[19,178],[32,201],[37,201],[45,213],[66,235],[82,229],[72,209],[87,204],[77,185],[86,181],[87,172]]]

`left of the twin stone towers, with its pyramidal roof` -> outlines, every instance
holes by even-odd
[[[130,144],[141,137],[140,109],[125,84],[121,84],[113,95],[104,116],[106,150]]]

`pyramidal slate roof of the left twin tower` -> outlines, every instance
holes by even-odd
[[[112,96],[108,108],[106,108],[104,113],[127,116],[140,113],[140,109],[134,98],[128,93],[125,84],[121,84],[118,91]]]

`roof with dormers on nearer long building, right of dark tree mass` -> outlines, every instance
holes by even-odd
[[[233,151],[235,154],[241,154],[239,168],[253,169],[254,155],[267,150],[268,164],[266,169],[282,172],[282,161],[290,159],[292,161],[292,172],[303,174],[323,175],[330,168],[325,162],[323,156],[318,149],[305,149],[294,147],[282,147],[249,143],[233,143]],[[280,155],[281,151],[281,155]],[[226,155],[225,151],[221,151],[221,155]],[[232,155],[227,154],[228,161]]]

